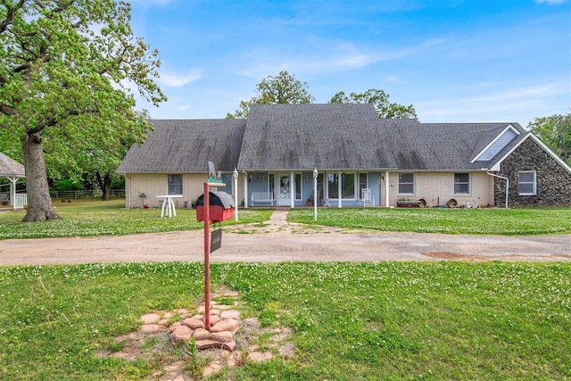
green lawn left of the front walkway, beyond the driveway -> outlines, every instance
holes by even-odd
[[[41,238],[62,236],[122,236],[140,233],[193,230],[203,228],[196,221],[194,209],[177,208],[177,216],[161,218],[160,209],[125,209],[123,199],[74,200],[54,203],[62,219],[23,223],[24,211],[0,213],[0,240],[8,238]],[[239,211],[240,223],[263,222],[272,211]],[[233,225],[231,219],[223,225]]]

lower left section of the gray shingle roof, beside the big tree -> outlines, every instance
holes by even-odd
[[[143,145],[133,145],[117,172],[231,171],[238,163],[245,120],[151,120]]]

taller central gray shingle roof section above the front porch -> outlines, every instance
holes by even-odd
[[[238,167],[243,170],[390,169],[385,125],[371,104],[254,104]]]

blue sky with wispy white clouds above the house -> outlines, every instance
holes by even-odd
[[[422,122],[571,108],[571,0],[133,0],[169,97],[154,119],[221,119],[287,70],[314,103],[384,90]]]

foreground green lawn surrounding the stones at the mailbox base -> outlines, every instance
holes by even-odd
[[[295,345],[212,379],[571,379],[569,263],[213,263],[211,279]],[[0,282],[0,379],[154,379],[188,357],[157,338],[142,359],[97,352],[144,313],[198,305],[203,267],[0,267]]]

